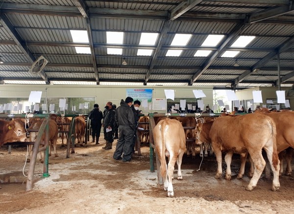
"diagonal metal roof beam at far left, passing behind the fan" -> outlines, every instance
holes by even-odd
[[[12,23],[8,20],[6,15],[0,13],[0,23],[4,27],[4,29],[7,31],[7,33],[10,35],[10,37],[13,39],[13,41],[17,44],[17,46],[21,49],[21,51],[25,54],[25,57],[28,59],[30,63],[35,62],[36,58],[33,56],[33,54],[30,52],[27,46],[25,46],[25,43],[23,42],[21,36],[19,33],[15,30]],[[43,80],[46,82],[46,84],[50,84],[48,81],[48,77],[46,73],[42,70],[39,75],[43,78]]]

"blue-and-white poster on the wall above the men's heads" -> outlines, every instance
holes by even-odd
[[[141,102],[140,109],[148,111],[148,107],[152,103],[152,92],[153,89],[126,89],[126,97],[132,97],[134,101],[139,100]]]

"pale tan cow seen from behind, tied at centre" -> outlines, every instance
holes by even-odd
[[[169,197],[173,197],[172,177],[175,162],[178,166],[177,179],[183,179],[181,164],[186,150],[184,128],[179,121],[166,118],[155,126],[153,136],[156,154],[161,163],[160,171],[164,180],[164,190],[168,191]],[[166,156],[169,157],[168,165]]]

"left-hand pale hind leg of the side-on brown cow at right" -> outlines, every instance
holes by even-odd
[[[261,176],[261,173],[263,172],[266,166],[266,161],[264,160],[261,154],[261,151],[258,151],[258,150],[248,150],[248,151],[254,163],[254,173],[252,178],[250,179],[248,186],[246,187],[246,190],[252,191],[254,187],[256,187],[256,184]]]

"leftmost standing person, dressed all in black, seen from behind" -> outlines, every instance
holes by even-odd
[[[96,144],[99,144],[99,137],[101,131],[101,120],[103,119],[102,111],[99,109],[98,104],[94,104],[94,108],[90,111],[88,118],[91,120],[91,128],[92,128],[92,142],[95,142],[96,136]]]

